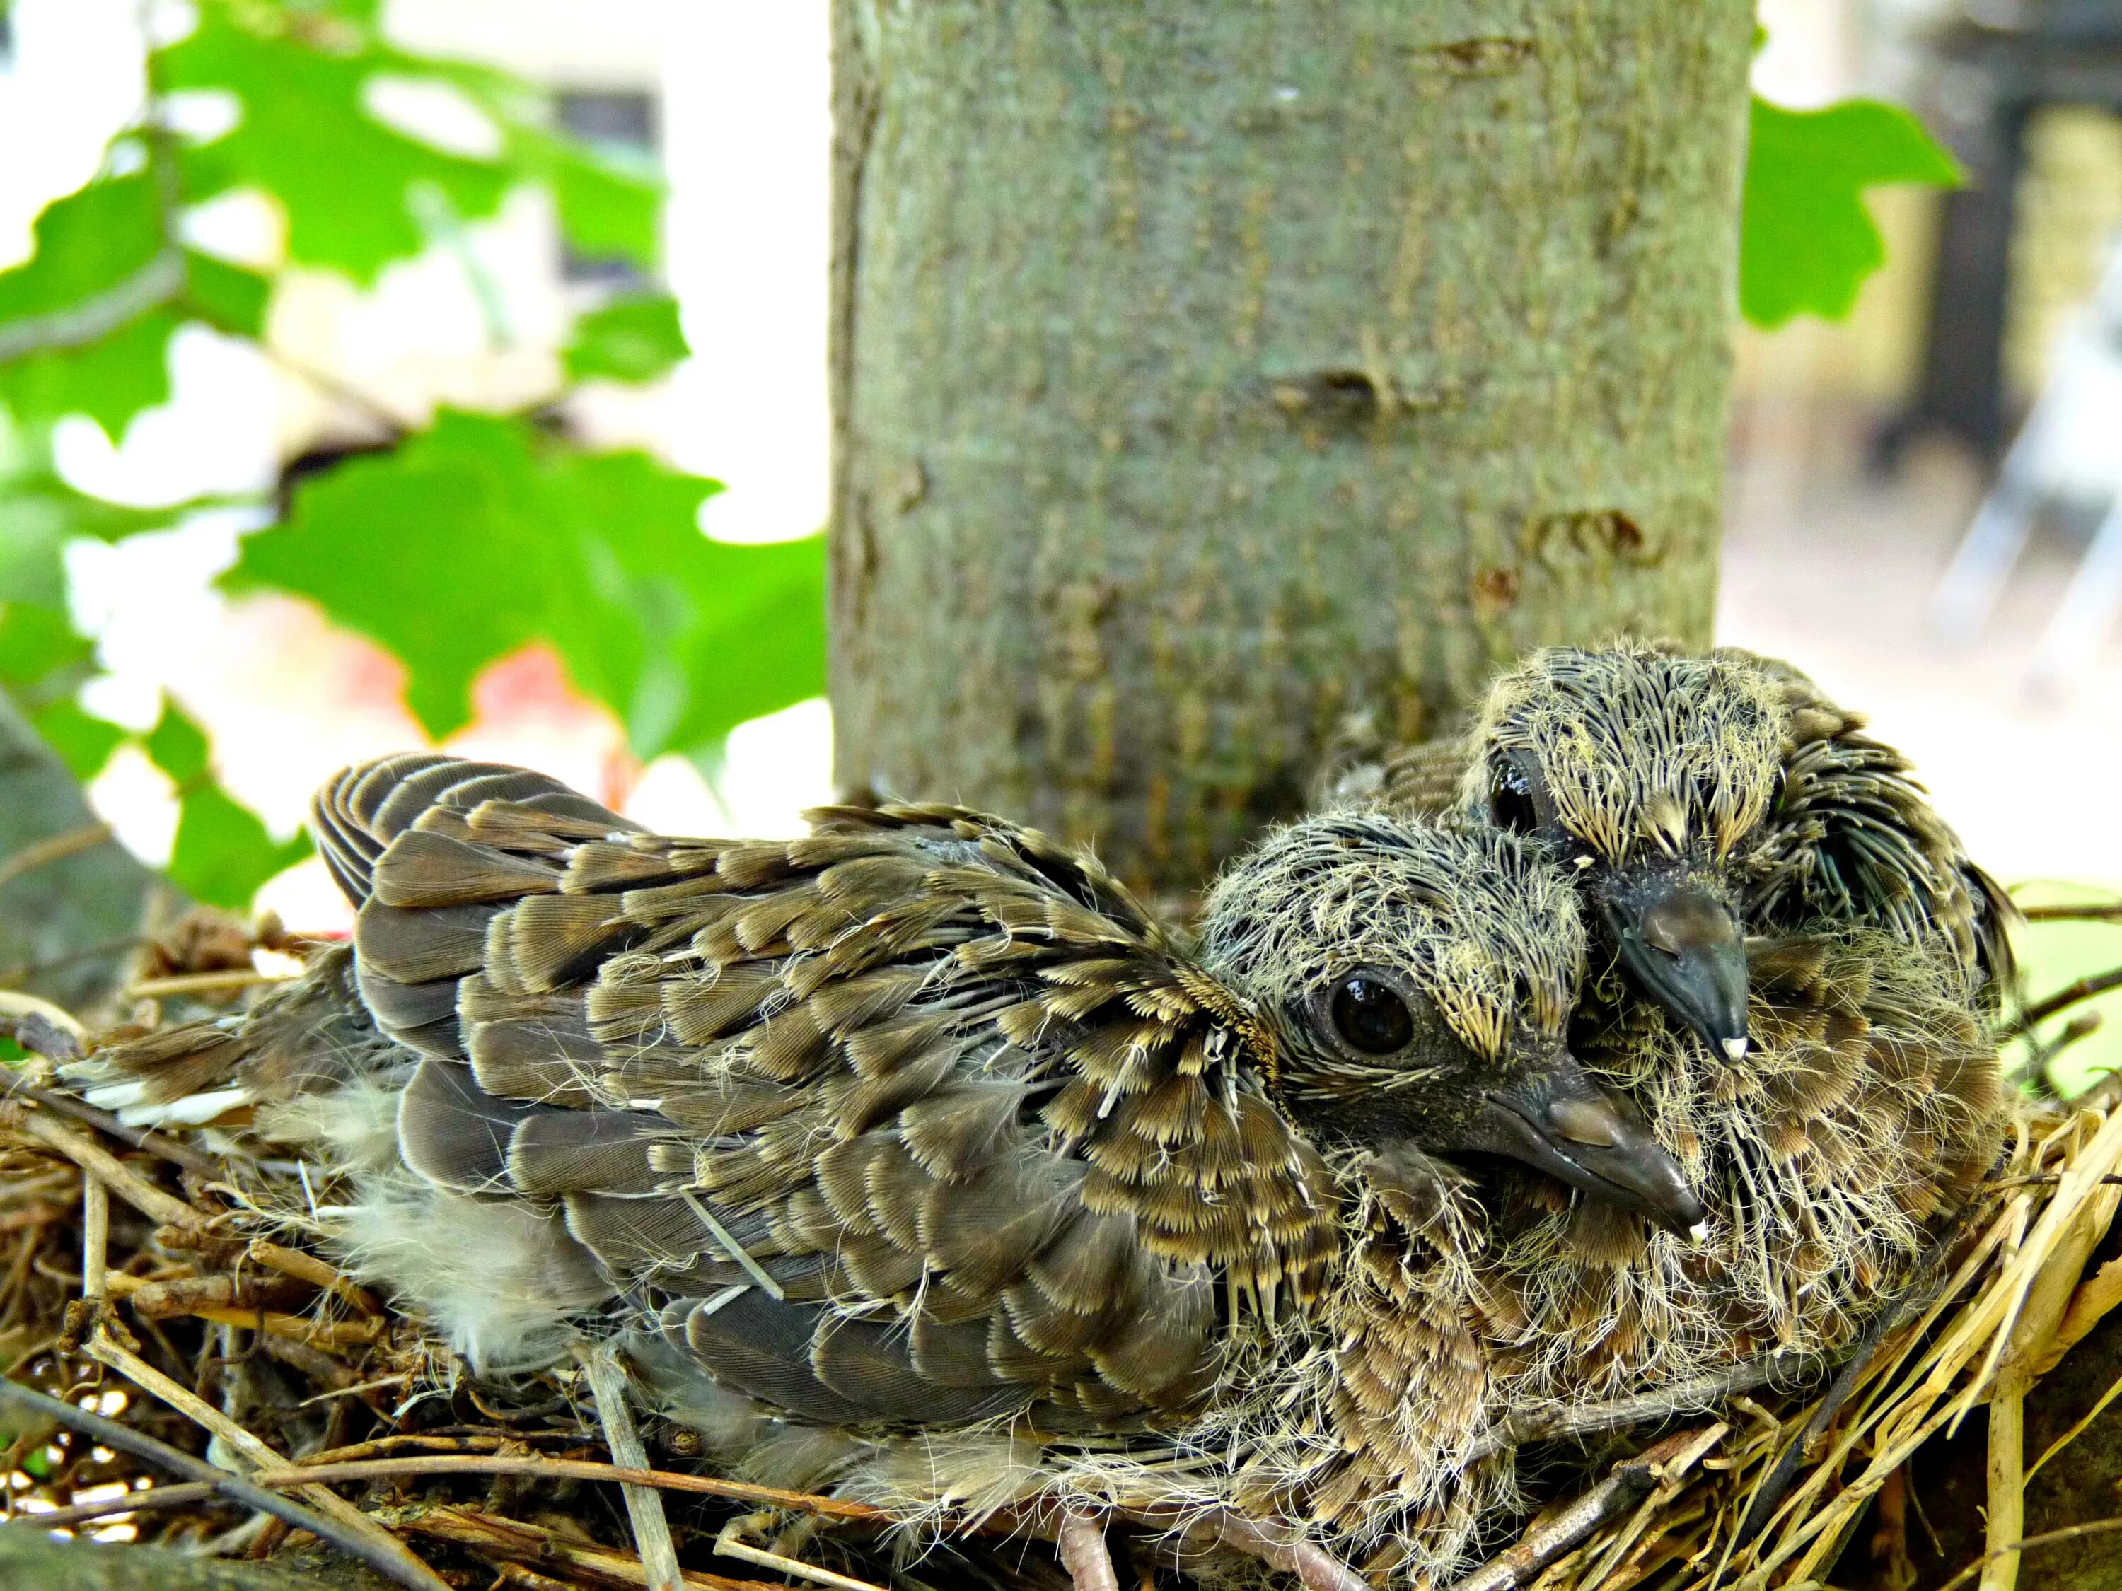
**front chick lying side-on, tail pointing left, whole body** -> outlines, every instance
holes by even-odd
[[[1356,1544],[1428,1510],[1443,1563],[1488,1368],[1432,1156],[1704,1218],[1568,1054],[1577,891],[1504,832],[1292,825],[1195,952],[949,806],[683,840],[410,755],[316,834],[352,946],[76,1084],[337,1173],[346,1264],[475,1368],[620,1341],[671,1417],[800,1453],[781,1483]]]

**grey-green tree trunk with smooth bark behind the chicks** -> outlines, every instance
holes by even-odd
[[[1186,889],[1710,632],[1753,6],[836,0],[845,785]]]

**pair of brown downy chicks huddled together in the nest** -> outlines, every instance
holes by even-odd
[[[384,759],[316,804],[352,946],[74,1082],[314,1165],[475,1368],[611,1345],[777,1483],[1443,1572],[1513,1411],[1846,1341],[1995,1152],[2001,895],[1795,679],[1543,653],[1449,810],[1401,759],[1199,942],[976,812],[685,840]]]

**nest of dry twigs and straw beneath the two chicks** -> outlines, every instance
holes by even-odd
[[[149,993],[172,1018],[197,1016],[244,982],[176,972]],[[45,1056],[79,1037],[64,1012],[23,997],[0,997],[0,1022]],[[25,1078],[0,1103],[13,1521],[253,1559],[323,1538],[384,1583],[431,1589],[654,1587],[673,1572],[700,1591],[1116,1591],[1129,1566],[1144,1591],[1188,1578],[1182,1544],[1154,1521],[1093,1521],[1116,1578],[1106,1553],[1084,1553],[1082,1517],[991,1517],[910,1542],[874,1508],[719,1479],[681,1428],[598,1423],[609,1360],[475,1385],[318,1258],[312,1230],[265,1213],[255,1177],[291,1169],[123,1129],[36,1086],[34,1059]],[[2118,1162],[2122,1092],[2031,1103],[1927,1273],[1802,1389],[1774,1389],[1789,1366],[1759,1362],[1706,1389],[1706,1413],[1619,1400],[1519,1432],[1530,1457],[1547,1457],[1532,1468],[1549,1502],[1498,1521],[1496,1555],[1454,1591],[1825,1585],[1863,1521],[1874,1557],[1891,1559],[1910,1459],[1978,1409],[1988,1555],[1946,1585],[2007,1583],[1993,1566],[2043,1540],[2020,1542],[2024,1481],[2048,1457],[2022,1451],[2024,1398],[2122,1302],[2122,1260],[2086,1273],[2122,1201]],[[1292,1549],[1277,1529],[1227,1521],[1220,1546],[1309,1591],[1360,1591],[1362,1566]]]

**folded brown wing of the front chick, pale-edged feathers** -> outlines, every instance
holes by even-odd
[[[721,1381],[828,1421],[1110,1417],[1320,1286],[1333,1182],[1267,1035],[1095,863],[944,806],[683,840],[407,766],[320,802],[369,889],[361,999],[427,1056],[405,1165],[562,1209]]]

